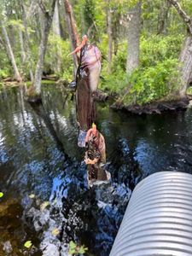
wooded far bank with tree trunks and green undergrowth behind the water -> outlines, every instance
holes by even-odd
[[[75,79],[78,62],[77,55],[68,54],[86,33],[102,52],[99,90],[104,98],[113,98],[112,108],[160,113],[188,105],[192,82],[188,1],[155,0],[148,5],[138,0],[49,0],[32,5],[3,0],[0,84],[24,83],[32,97],[40,97],[44,79],[67,86]]]

